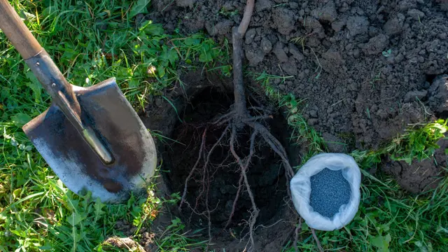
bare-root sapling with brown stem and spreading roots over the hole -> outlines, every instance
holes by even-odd
[[[246,2],[246,8],[244,10],[244,16],[241,20],[241,23],[239,27],[234,27],[232,29],[232,43],[233,43],[233,50],[232,50],[232,58],[233,58],[233,85],[234,85],[234,96],[235,96],[235,104],[233,104],[232,108],[228,113],[225,113],[225,115],[218,117],[216,120],[210,123],[210,125],[214,127],[221,127],[225,125],[225,130],[221,134],[221,137],[216,141],[214,146],[211,148],[210,151],[208,151],[207,155],[205,150],[205,138],[207,134],[207,127],[204,129],[204,132],[202,133],[202,142],[200,146],[199,155],[197,158],[197,161],[193,168],[190,171],[190,174],[188,174],[188,177],[185,181],[185,186],[183,190],[183,195],[181,197],[181,203],[179,204],[179,210],[181,211],[182,205],[184,202],[186,202],[186,193],[187,193],[187,187],[188,187],[188,181],[192,178],[194,172],[197,170],[197,165],[200,163],[200,160],[204,159],[204,167],[202,167],[202,185],[209,187],[209,169],[207,166],[209,166],[209,159],[211,153],[213,153],[216,146],[223,144],[223,139],[225,135],[229,132],[230,134],[230,153],[232,153],[232,156],[235,158],[238,166],[239,166],[239,172],[241,172],[241,176],[239,177],[238,181],[238,190],[237,195],[235,197],[235,200],[232,204],[232,212],[228,218],[228,222],[225,225],[225,228],[230,225],[232,222],[232,217],[235,214],[235,209],[237,207],[237,202],[239,200],[239,196],[241,195],[241,191],[243,191],[243,188],[245,188],[245,191],[248,193],[249,198],[251,199],[252,209],[251,209],[251,217],[248,220],[248,226],[249,226],[249,240],[251,243],[251,246],[248,248],[248,251],[253,251],[255,249],[255,239],[254,239],[254,226],[258,218],[258,214],[260,213],[260,210],[258,209],[257,205],[255,204],[255,197],[253,196],[253,192],[251,190],[251,186],[249,185],[248,178],[247,178],[247,171],[249,165],[251,165],[251,160],[253,158],[253,155],[255,154],[255,139],[260,136],[261,139],[265,141],[265,143],[272,148],[272,151],[274,151],[279,157],[281,158],[283,167],[286,170],[286,186],[288,195],[290,196],[290,190],[289,190],[289,181],[294,176],[293,168],[291,167],[288,155],[286,153],[285,148],[283,148],[282,144],[279,140],[277,140],[263,125],[261,122],[264,120],[267,120],[268,118],[272,118],[272,115],[269,115],[269,111],[262,106],[252,106],[248,108],[246,106],[246,87],[244,85],[243,80],[243,72],[242,72],[242,57],[243,57],[243,49],[242,49],[242,39],[244,38],[244,34],[246,33],[246,30],[248,28],[248,24],[251,20],[251,15],[253,12],[253,6],[254,6],[254,0],[247,0]],[[256,110],[258,112],[261,112],[260,116],[251,116],[249,113],[249,110]],[[264,114],[263,114],[264,113]],[[249,153],[246,157],[241,158],[237,152],[235,151],[235,147],[238,144],[237,141],[237,134],[240,132],[244,127],[250,127],[251,132],[251,141],[250,141],[250,148]],[[207,191],[208,195],[208,188],[203,188],[202,193],[204,191]],[[199,200],[199,197],[197,198]],[[208,208],[208,196],[206,197],[206,204],[207,204],[207,213],[204,213],[204,215],[207,215],[207,218],[209,219],[209,238],[211,239],[211,232],[210,232],[210,211]],[[187,202],[188,204],[188,202]],[[188,206],[191,208],[190,204]],[[195,209],[192,209],[195,211]],[[296,233],[298,230],[296,230]],[[296,234],[297,238],[297,234]],[[297,242],[295,242],[297,244]]]

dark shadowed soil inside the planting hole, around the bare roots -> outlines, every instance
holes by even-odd
[[[182,76],[183,87],[177,86],[167,90],[164,94],[172,104],[165,99],[156,97],[151,99],[146,108],[146,116],[142,117],[145,125],[175,141],[164,139],[157,140],[159,159],[162,160],[162,177],[159,181],[158,197],[169,198],[172,193],[182,193],[186,176],[195,165],[201,137],[207,122],[216,116],[228,111],[233,101],[230,92],[230,80],[223,80],[214,74],[202,74],[190,72]],[[262,97],[260,101],[262,101]],[[248,101],[251,104],[252,100]],[[173,109],[176,107],[176,110]],[[176,112],[177,111],[177,112]],[[275,137],[282,141],[283,146],[288,147],[291,165],[298,165],[300,155],[295,146],[288,146],[290,132],[286,130],[286,120],[281,113],[272,114],[268,120],[268,126]],[[182,122],[179,120],[182,120]],[[244,129],[248,131],[248,129]],[[238,153],[247,155],[248,132],[239,134]],[[209,150],[216,139],[221,136],[223,128],[211,127],[207,131],[206,148]],[[246,136],[244,136],[246,134]],[[179,144],[181,143],[181,144]],[[262,141],[258,141],[262,143]],[[216,148],[211,156],[209,165],[209,206],[211,210],[211,233],[213,236],[212,248],[226,248],[226,251],[243,251],[246,242],[240,239],[247,235],[246,223],[251,209],[250,200],[245,190],[242,191],[235,216],[232,218],[228,229],[224,229],[230,215],[232,202],[235,199],[239,172],[232,155],[229,153],[229,139],[223,141],[223,146]],[[203,160],[201,160],[203,164]],[[202,213],[206,210],[205,202],[196,202],[197,196],[202,190],[201,176],[202,166],[195,172],[193,179],[188,183],[186,201],[190,206],[196,207],[195,211]],[[297,216],[288,207],[288,195],[286,194],[285,171],[281,166],[281,160],[274,155],[269,146],[258,146],[256,157],[248,169],[248,179],[255,196],[255,201],[260,209],[258,217],[258,229],[255,232],[256,251],[279,251],[289,240],[294,230]],[[183,222],[191,230],[202,230],[204,239],[207,239],[208,218],[194,214],[186,204],[180,212],[178,207],[165,209],[162,218],[165,218],[165,226],[172,219],[169,214],[180,216]],[[160,218],[156,219],[159,221]],[[163,221],[162,221],[163,222]],[[162,225],[151,225],[151,227]],[[246,227],[246,228],[245,228]],[[264,228],[269,227],[269,228]],[[155,228],[157,229],[157,228]],[[152,232],[158,232],[153,230]],[[146,244],[142,244],[146,246]],[[150,244],[151,245],[151,244]]]

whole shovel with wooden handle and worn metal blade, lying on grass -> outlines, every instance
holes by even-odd
[[[0,29],[52,97],[22,129],[65,186],[102,202],[144,190],[156,167],[154,142],[115,78],[69,84],[7,0],[0,0]]]

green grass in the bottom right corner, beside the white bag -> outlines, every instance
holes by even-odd
[[[341,230],[317,232],[318,239],[327,251],[447,251],[447,193],[447,179],[428,195],[410,196],[393,179],[366,178],[353,221]],[[306,225],[300,235],[299,248],[316,251]]]

